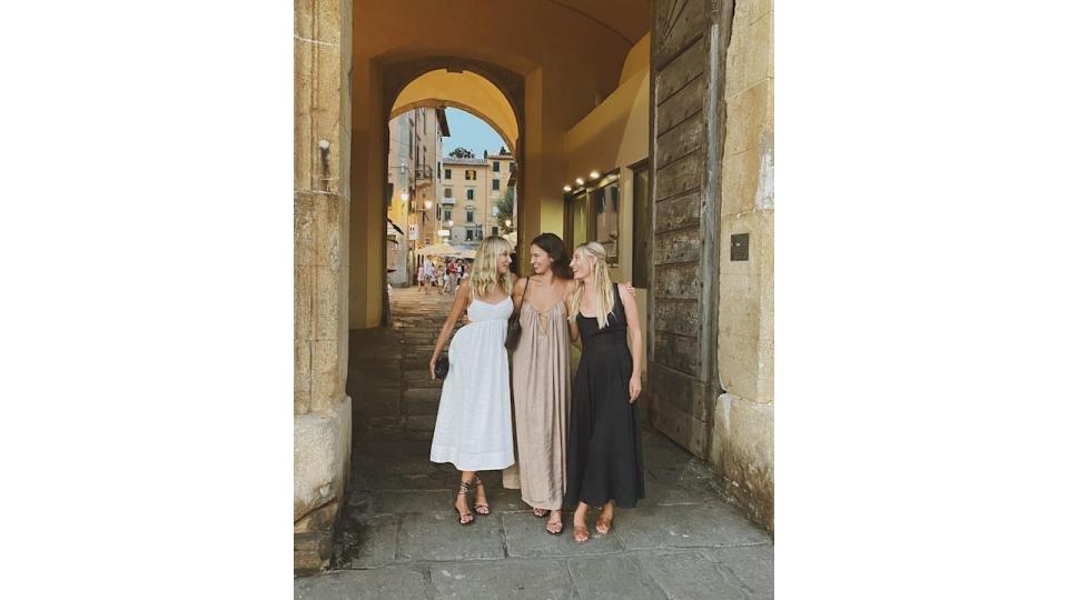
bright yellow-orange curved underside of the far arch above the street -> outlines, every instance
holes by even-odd
[[[400,90],[389,110],[389,118],[418,106],[455,107],[490,123],[504,138],[512,152],[520,136],[520,124],[507,98],[484,77],[464,71],[429,71],[417,77]]]

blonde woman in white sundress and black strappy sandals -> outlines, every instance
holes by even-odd
[[[434,363],[466,310],[471,323],[456,332],[448,347],[448,374],[442,386],[431,443],[433,462],[451,462],[461,471],[456,512],[463,526],[475,520],[467,506],[472,491],[475,513],[490,514],[478,471],[505,469],[515,462],[508,354],[504,348],[513,308],[511,251],[512,246],[504,238],[491,236],[483,240],[471,278],[459,284],[431,357],[434,379]]]

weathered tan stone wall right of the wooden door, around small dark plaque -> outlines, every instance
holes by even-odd
[[[771,0],[738,0],[726,54],[720,384],[711,461],[724,491],[774,529],[774,67]],[[749,259],[731,238],[749,234]]]

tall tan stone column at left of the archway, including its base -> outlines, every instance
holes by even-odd
[[[352,7],[294,4],[295,569],[328,564],[352,441],[348,221]]]

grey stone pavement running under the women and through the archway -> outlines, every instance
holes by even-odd
[[[429,461],[441,382],[427,362],[452,297],[393,292],[393,324],[352,332],[356,423],[352,490],[329,572],[297,578],[299,599],[772,598],[773,543],[724,502],[708,463],[646,430],[647,497],[607,536],[544,531],[516,490],[486,471],[492,514],[462,528],[459,476]],[[639,400],[641,401],[641,400]]]

